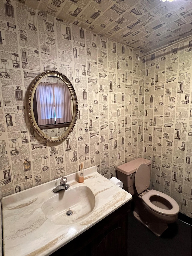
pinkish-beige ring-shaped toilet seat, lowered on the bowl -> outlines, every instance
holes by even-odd
[[[151,201],[150,198],[152,196],[159,196],[164,198],[165,200],[167,200],[171,205],[172,205],[172,209],[167,210],[167,209],[162,209],[158,206],[155,206]],[[151,208],[153,211],[158,212],[160,214],[163,215],[168,215],[168,216],[173,216],[178,214],[179,212],[179,205],[176,203],[176,201],[168,196],[167,194],[164,194],[160,191],[156,191],[156,190],[150,190],[149,192],[147,192],[146,194],[144,194],[141,199],[143,200],[143,203],[145,203],[149,208]]]

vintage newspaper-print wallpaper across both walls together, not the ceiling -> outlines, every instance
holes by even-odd
[[[152,187],[191,217],[191,40],[149,59],[139,51],[19,1],[0,3],[1,197],[97,165],[106,178],[138,157],[152,160]],[[155,50],[155,49],[154,49]],[[63,143],[30,126],[26,92],[45,70],[63,73],[78,119]]]

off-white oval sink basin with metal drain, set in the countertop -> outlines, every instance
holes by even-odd
[[[68,188],[46,200],[41,209],[55,224],[70,224],[86,218],[95,207],[95,196],[87,186]]]

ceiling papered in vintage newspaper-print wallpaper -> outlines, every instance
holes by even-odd
[[[20,2],[145,53],[191,35],[191,0]]]

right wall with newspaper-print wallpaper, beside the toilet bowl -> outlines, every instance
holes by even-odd
[[[144,158],[151,188],[173,197],[192,216],[192,40],[146,58]]]

